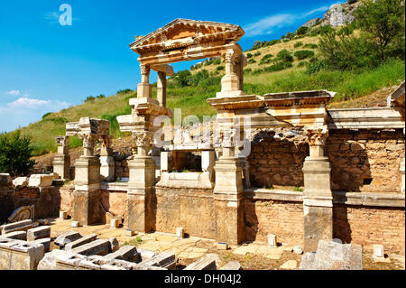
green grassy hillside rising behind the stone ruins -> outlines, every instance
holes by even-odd
[[[303,46],[294,48],[295,42],[318,43],[318,37],[304,37],[290,42],[278,43],[272,46],[263,47],[254,51],[245,51],[245,54],[250,52],[254,55],[256,51],[260,51],[261,55],[253,56],[252,59],[256,63],[248,64],[246,69],[251,68],[263,69],[271,64],[259,65],[260,60],[265,54],[276,55],[279,51],[287,49],[291,52],[299,50],[311,50],[303,48]],[[313,50],[317,52],[317,50]],[[316,56],[318,56],[316,54]],[[375,70],[365,70],[362,73],[354,73],[350,71],[321,71],[315,75],[307,75],[305,68],[298,67],[299,60],[294,60],[293,67],[287,70],[281,70],[272,73],[262,73],[254,75],[252,73],[245,74],[245,93],[263,95],[270,92],[281,91],[297,91],[297,90],[312,90],[312,89],[328,89],[337,92],[335,102],[336,107],[348,107],[346,103],[352,105],[351,101],[343,102],[355,98],[365,97],[375,91],[384,88],[398,85],[405,79],[405,65],[401,61],[393,61],[385,64]],[[224,65],[223,63],[220,65]],[[204,65],[202,69],[209,72],[215,71],[218,65]],[[195,73],[198,70],[193,70]],[[218,75],[224,73],[219,72]],[[216,97],[216,92],[220,90],[220,85],[209,87],[187,87],[175,88],[171,86],[167,89],[167,105],[171,109],[181,108],[182,116],[213,116],[216,115],[216,110],[210,107],[206,101],[207,98]],[[156,97],[155,87],[152,91],[152,97]],[[56,135],[65,134],[65,123],[78,121],[82,116],[91,116],[95,118],[105,118],[112,122],[112,135],[115,137],[121,135],[115,116],[131,113],[128,105],[128,99],[136,97],[134,94],[115,95],[109,98],[97,99],[92,102],[87,102],[75,107],[69,107],[58,113],[52,113],[45,116],[41,121],[23,127],[21,130],[23,135],[31,135],[34,151],[36,154],[54,152],[56,144],[54,137]],[[364,101],[367,102],[367,101]],[[343,104],[344,103],[344,104]],[[366,105],[367,106],[367,105]],[[364,105],[365,107],[365,105]],[[70,147],[77,147],[80,141],[73,137],[70,140]]]

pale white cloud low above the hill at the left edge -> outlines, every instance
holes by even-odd
[[[41,120],[48,112],[57,112],[71,104],[60,100],[42,100],[36,98],[18,98],[14,102],[0,107],[0,132],[12,131],[19,126]],[[44,131],[44,133],[46,133]]]

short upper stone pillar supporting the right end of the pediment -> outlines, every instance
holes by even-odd
[[[223,54],[226,63],[226,75],[221,79],[221,92],[217,92],[217,98],[235,97],[245,95],[241,89],[240,73],[238,66],[235,64],[239,61],[241,52],[228,50]]]

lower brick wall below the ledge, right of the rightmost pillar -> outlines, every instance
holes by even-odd
[[[372,251],[382,244],[386,252],[405,252],[405,210],[361,206],[334,206],[334,237]]]

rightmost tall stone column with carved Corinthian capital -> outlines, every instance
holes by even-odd
[[[303,164],[304,250],[316,251],[318,240],[333,238],[333,194],[330,163],[324,155],[327,126],[306,130],[309,157]]]

